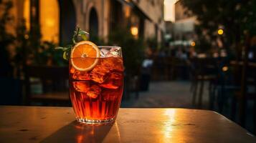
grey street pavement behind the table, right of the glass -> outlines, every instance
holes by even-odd
[[[131,94],[122,101],[121,107],[129,108],[193,108],[189,81],[151,82],[149,90],[139,92],[139,98]],[[207,106],[207,86],[204,89],[204,107]]]

